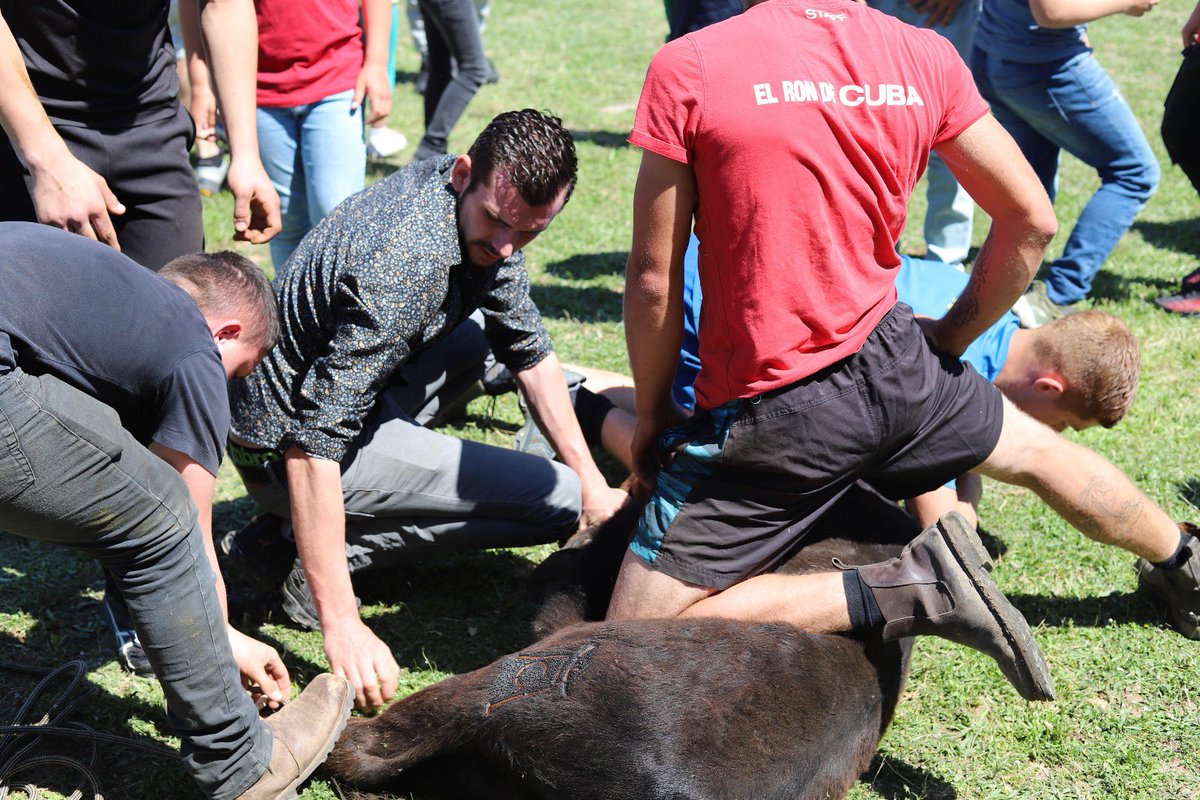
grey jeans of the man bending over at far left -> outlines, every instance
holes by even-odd
[[[71,547],[116,579],[185,768],[209,795],[236,798],[262,776],[271,733],[241,687],[182,479],[113,409],[13,367],[4,333],[0,529]]]

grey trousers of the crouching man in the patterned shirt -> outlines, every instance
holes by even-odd
[[[422,427],[484,371],[478,318],[404,365],[342,461],[350,572],[395,564],[412,547],[523,547],[556,541],[580,517],[580,479],[538,456]],[[289,517],[287,475],[246,483],[266,511]]]

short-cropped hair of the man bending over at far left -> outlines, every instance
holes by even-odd
[[[230,251],[180,255],[158,275],[192,295],[205,317],[236,317],[251,342],[270,349],[280,338],[275,289],[253,261]]]

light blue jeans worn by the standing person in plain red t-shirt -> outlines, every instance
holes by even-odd
[[[271,240],[276,271],[338,203],[362,191],[367,150],[362,107],[352,112],[353,98],[347,90],[304,106],[258,109],[258,152],[283,213],[283,230]]]

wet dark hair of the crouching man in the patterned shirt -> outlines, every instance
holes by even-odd
[[[575,139],[563,120],[532,108],[505,112],[487,124],[467,151],[470,156],[470,192],[503,169],[521,199],[546,205],[566,190],[571,199],[578,172]]]

